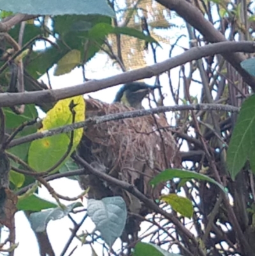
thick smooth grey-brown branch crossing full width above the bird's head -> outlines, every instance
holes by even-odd
[[[222,54],[230,52],[255,52],[254,42],[231,42],[225,41],[222,43],[214,43],[203,47],[193,47],[179,56],[171,57],[170,59],[157,63],[146,68],[124,72],[120,75],[114,75],[101,80],[91,80],[78,86],[68,88],[34,91],[25,93],[3,93],[0,94],[0,107],[11,107],[13,105],[31,104],[31,103],[47,103],[56,102],[71,96],[77,96],[85,93],[99,91],[118,84],[133,82],[135,80],[145,79],[164,73],[172,68],[185,64],[189,61],[201,59],[201,57],[210,56],[213,54]]]

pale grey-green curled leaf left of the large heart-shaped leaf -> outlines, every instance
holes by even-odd
[[[39,213],[31,213],[29,221],[31,227],[35,232],[43,232],[46,230],[48,222],[50,220],[59,220],[68,215],[75,207],[82,206],[80,202],[69,204],[64,209],[57,207],[55,209],[48,209],[46,211],[40,211]]]

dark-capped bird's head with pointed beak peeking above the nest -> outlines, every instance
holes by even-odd
[[[145,98],[150,91],[157,88],[160,88],[160,86],[149,86],[144,82],[124,84],[116,94],[114,102],[121,102],[123,105],[141,109],[143,98]]]

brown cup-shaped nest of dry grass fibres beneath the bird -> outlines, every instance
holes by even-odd
[[[86,100],[86,117],[130,110],[134,109],[121,103],[108,104],[91,98]],[[78,152],[96,169],[135,185],[147,197],[155,199],[159,197],[163,186],[152,190],[150,179],[173,164],[176,165],[176,160],[179,159],[177,146],[168,126],[166,119],[159,116],[91,124],[84,130]],[[84,189],[90,187],[89,198],[102,199],[120,195],[125,200],[129,213],[142,216],[149,213],[149,209],[136,197],[119,187],[106,184],[89,172],[81,178],[80,185]],[[131,224],[128,226],[130,229]],[[127,230],[127,233],[130,234],[131,230]]]

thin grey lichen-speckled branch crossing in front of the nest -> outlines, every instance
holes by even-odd
[[[221,105],[221,104],[174,105],[169,107],[165,107],[165,106],[157,107],[155,109],[140,109],[140,110],[122,112],[117,114],[109,114],[106,116],[87,119],[84,122],[69,124],[66,126],[61,126],[59,128],[52,129],[52,130],[45,130],[43,132],[33,133],[31,135],[27,135],[27,136],[15,139],[10,142],[10,144],[8,145],[8,148],[14,147],[26,142],[31,142],[33,140],[38,140],[45,137],[57,135],[59,133],[68,133],[78,128],[84,128],[85,126],[87,126],[87,124],[99,124],[99,123],[105,123],[108,121],[114,121],[119,119],[148,116],[150,114],[158,114],[163,112],[181,111],[181,110],[206,110],[206,111],[220,110],[220,111],[226,111],[226,112],[238,112],[239,108],[233,107],[230,105]]]

